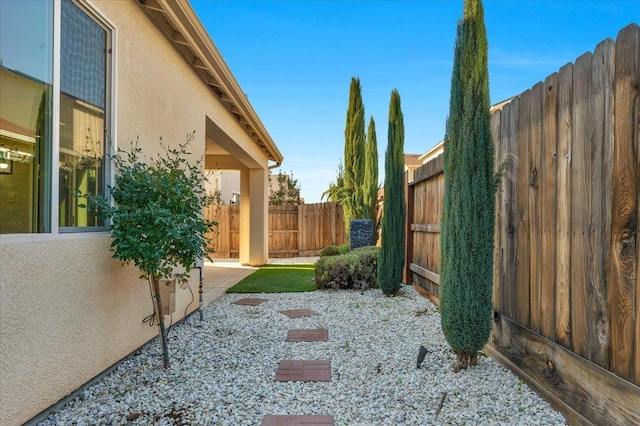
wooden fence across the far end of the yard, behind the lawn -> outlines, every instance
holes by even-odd
[[[209,206],[208,220],[218,222],[209,236],[213,258],[240,254],[240,208]],[[336,203],[269,206],[269,257],[318,256],[329,244],[346,242],[342,205]]]

